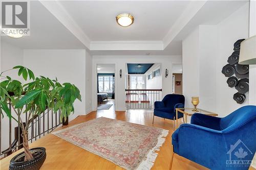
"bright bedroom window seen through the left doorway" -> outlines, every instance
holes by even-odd
[[[113,76],[98,76],[99,92],[112,93],[114,81]]]

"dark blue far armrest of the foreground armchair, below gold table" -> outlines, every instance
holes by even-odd
[[[192,115],[190,123],[194,125],[199,125],[202,127],[221,130],[220,128],[220,117],[214,117],[206,114],[195,113]]]

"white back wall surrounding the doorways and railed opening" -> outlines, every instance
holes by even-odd
[[[172,72],[172,63],[181,63],[181,56],[93,56],[93,109],[97,106],[97,64],[116,64],[115,69],[115,109],[125,110],[125,70],[126,63],[161,63],[161,74],[165,69]],[[122,78],[119,70],[122,69]],[[172,93],[172,76],[162,79],[163,96]]]

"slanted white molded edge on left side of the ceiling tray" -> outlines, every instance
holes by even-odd
[[[75,20],[69,15],[66,9],[58,1],[39,1],[46,7],[77,39],[79,39],[87,48],[90,48],[91,40],[84,34]]]

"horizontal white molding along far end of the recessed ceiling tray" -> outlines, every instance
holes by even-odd
[[[163,50],[162,41],[91,41],[90,50]]]

